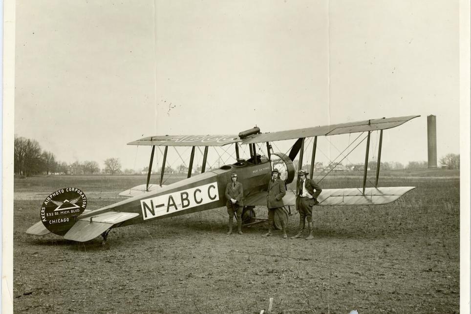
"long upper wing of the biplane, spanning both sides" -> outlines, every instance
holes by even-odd
[[[253,144],[273,141],[299,139],[304,137],[337,135],[364,131],[384,130],[400,126],[403,123],[420,116],[407,116],[396,118],[371,119],[359,122],[349,122],[331,126],[315,126],[295,130],[258,133],[250,135],[243,140],[238,135],[163,135],[150,136],[128,145],[154,145],[154,146],[224,146],[240,142],[240,144]]]

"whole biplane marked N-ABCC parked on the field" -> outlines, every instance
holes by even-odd
[[[64,216],[66,218],[62,219],[62,221],[66,220],[67,223],[61,224],[60,221],[57,223],[58,219],[56,219],[53,223],[57,224],[53,229],[46,228],[48,227],[46,224],[50,223],[50,220],[46,222],[42,215],[42,220],[30,227],[26,233],[45,235],[52,230],[53,233],[62,235],[65,239],[80,242],[88,241],[101,235],[105,242],[109,231],[113,228],[225,206],[226,184],[231,182],[231,174],[234,172],[237,174],[238,181],[244,186],[245,207],[242,219],[248,222],[247,224],[255,224],[258,222],[257,219],[259,219],[256,218],[255,207],[266,206],[267,187],[274,167],[280,171],[280,178],[284,180],[285,184],[291,183],[295,178],[296,168],[300,169],[303,163],[305,139],[311,138],[314,139],[309,171],[309,176],[312,179],[318,136],[348,133],[360,133],[360,135],[364,135],[363,140],[366,139],[363,187],[322,189],[321,195],[318,197],[319,206],[381,205],[390,203],[415,187],[378,187],[380,167],[376,167],[374,187],[366,187],[371,133],[373,131],[380,132],[377,155],[377,165],[380,165],[383,130],[400,126],[416,117],[419,116],[371,119],[361,122],[271,133],[261,133],[258,127],[254,127],[242,131],[238,135],[164,135],[145,137],[128,143],[128,145],[151,146],[149,173],[145,185],[121,192],[120,195],[128,196],[128,198],[100,209],[68,210]],[[270,143],[284,140],[296,141],[290,147],[287,154],[273,152],[273,147]],[[208,147],[228,145],[234,145],[236,162],[206,170]],[[258,148],[266,147],[266,156],[258,153],[260,149],[257,151],[256,145]],[[186,179],[181,181],[162,185],[167,152],[171,146],[192,147],[188,175]],[[248,146],[250,151],[250,158],[246,160],[239,156],[239,149],[243,146],[245,148]],[[160,184],[150,184],[155,147],[164,147]],[[204,147],[204,154],[201,173],[192,176],[195,147]],[[356,147],[353,147],[352,150]],[[298,155],[299,162],[296,166],[294,161]],[[274,163],[274,159],[277,159],[278,162]],[[75,201],[77,202],[77,200]],[[67,208],[71,208],[71,206],[79,207],[72,204],[71,201],[65,200],[64,202],[68,202]],[[287,190],[286,195],[283,197],[283,202],[285,206],[294,206],[296,204],[295,193],[292,190]],[[57,202],[49,203],[49,205],[56,206]],[[62,209],[57,207],[53,210],[60,213]],[[42,212],[44,212],[44,207]],[[283,217],[283,215],[285,216]],[[278,214],[275,217],[274,227],[279,229],[279,220],[287,219],[287,215],[286,210]]]

